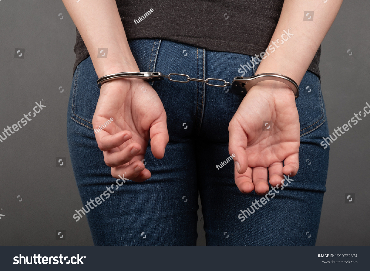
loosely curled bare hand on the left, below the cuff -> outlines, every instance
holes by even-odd
[[[157,92],[144,80],[115,79],[104,83],[92,125],[105,164],[111,167],[114,178],[121,175],[143,182],[151,177],[141,162],[149,132],[152,154],[157,159],[164,157],[169,140],[166,112]]]

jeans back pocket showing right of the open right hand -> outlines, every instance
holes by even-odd
[[[299,114],[300,136],[306,135],[325,122],[320,79],[307,71],[299,85],[296,99]]]

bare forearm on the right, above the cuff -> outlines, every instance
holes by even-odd
[[[342,0],[328,0],[326,3],[323,0],[285,0],[269,44],[269,48],[275,48],[275,51],[266,50],[269,55],[263,56],[265,59],[262,59],[256,74],[280,73],[299,85],[341,4]],[[309,15],[314,16],[313,21],[303,21],[305,11],[314,11]],[[289,30],[294,36],[288,38],[283,35],[284,30]]]

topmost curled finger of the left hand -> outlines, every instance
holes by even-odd
[[[118,146],[121,146],[131,137],[132,133],[130,131],[120,131],[114,135],[111,135],[110,133],[104,130],[101,130],[98,133],[96,133],[95,131],[95,138],[98,143],[98,147],[102,151],[108,151]]]

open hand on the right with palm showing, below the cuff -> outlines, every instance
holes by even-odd
[[[229,124],[229,154],[235,154],[235,183],[242,193],[268,192],[267,170],[272,186],[283,174],[297,174],[299,127],[293,91],[284,83],[264,81],[248,91]]]

